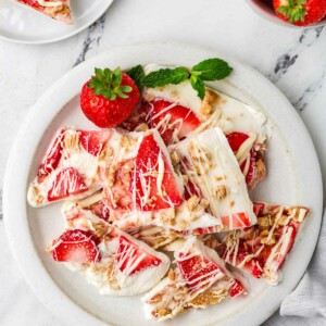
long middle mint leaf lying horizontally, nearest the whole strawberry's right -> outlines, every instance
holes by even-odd
[[[165,85],[177,85],[189,78],[189,72],[185,67],[164,68],[148,74],[143,80],[143,86],[160,87]]]

